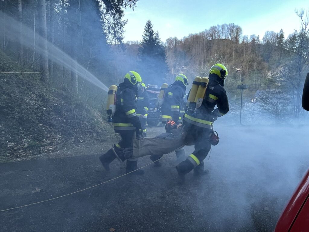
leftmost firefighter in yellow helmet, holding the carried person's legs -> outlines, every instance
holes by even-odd
[[[117,154],[123,148],[132,146],[133,136],[137,138],[142,136],[142,126],[137,110],[137,97],[141,88],[142,78],[134,71],[130,71],[125,75],[124,82],[119,84],[116,93],[116,111],[112,117],[112,122],[116,133],[121,136],[121,141],[114,144],[113,148],[107,153],[99,157],[104,168],[109,171],[109,164],[116,158],[124,161],[124,157],[119,157]],[[145,115],[145,114],[144,114]],[[137,159],[127,159],[126,173],[137,170]],[[144,170],[137,170],[132,174],[144,174]]]

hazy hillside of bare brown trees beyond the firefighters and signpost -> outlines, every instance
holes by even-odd
[[[245,101],[256,103],[248,108],[249,114],[276,123],[303,119],[301,97],[309,71],[309,19],[303,10],[296,11],[295,17],[299,17],[301,29],[290,35],[281,29],[266,31],[262,38],[247,36],[239,25],[231,23],[212,26],[182,39],[168,38],[164,43],[169,67],[167,82],[171,84],[180,72],[190,81],[195,76],[208,76],[214,63],[223,63],[229,71],[225,88],[231,114],[239,115],[241,91],[237,85],[247,84]],[[138,41],[125,44],[126,54],[136,57],[133,67],[138,67],[140,45]]]

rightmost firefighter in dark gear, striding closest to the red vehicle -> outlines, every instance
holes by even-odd
[[[195,176],[204,173],[204,159],[211,148],[212,124],[229,111],[229,103],[223,88],[226,76],[227,69],[224,65],[213,65],[210,68],[209,83],[201,106],[195,110],[187,110],[184,114],[183,130],[186,133],[186,141],[194,144],[195,150],[185,161],[176,166],[181,176],[191,170],[194,170]],[[216,105],[218,108],[214,110]]]

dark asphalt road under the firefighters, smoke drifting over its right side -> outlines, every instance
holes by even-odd
[[[0,231],[273,231],[309,164],[304,127],[217,126],[208,174],[181,184],[175,153],[143,176],[124,176],[53,201],[0,212]],[[150,128],[157,135],[163,128]],[[109,149],[106,147],[104,149]],[[193,147],[186,147],[189,155]],[[98,155],[0,164],[0,210],[46,200],[125,173]],[[143,157],[139,166],[150,163]]]

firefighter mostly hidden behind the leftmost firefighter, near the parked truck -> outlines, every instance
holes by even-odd
[[[140,89],[140,92],[138,94],[137,98],[137,109],[136,109],[136,115],[141,121],[142,130],[143,130],[143,137],[146,137],[146,121],[147,121],[147,115],[149,110],[149,96],[146,92],[146,85],[142,83],[142,87]]]

